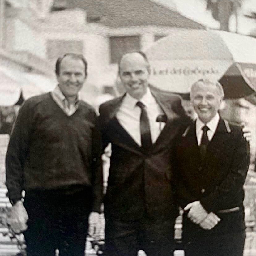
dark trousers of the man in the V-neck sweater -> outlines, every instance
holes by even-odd
[[[91,194],[26,193],[28,229],[24,232],[28,256],[84,256]]]

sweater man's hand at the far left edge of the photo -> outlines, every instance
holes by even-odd
[[[27,221],[28,221],[28,213],[25,207],[23,206],[22,201],[18,201],[11,208],[11,211],[8,214],[7,223],[9,224],[11,230],[14,233],[19,234],[28,228],[26,224]]]

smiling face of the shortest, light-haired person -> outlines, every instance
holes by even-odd
[[[191,103],[203,123],[208,123],[220,109],[222,96],[215,85],[198,83],[191,90]]]

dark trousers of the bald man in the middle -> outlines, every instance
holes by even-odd
[[[105,252],[107,256],[173,255],[174,217],[152,220],[147,216],[134,221],[106,219]]]

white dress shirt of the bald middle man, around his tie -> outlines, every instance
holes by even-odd
[[[150,133],[152,143],[155,143],[161,130],[163,130],[165,123],[156,122],[159,115],[163,115],[164,112],[156,102],[155,98],[151,94],[149,88],[147,88],[146,94],[139,100],[145,105],[147,111]],[[134,141],[141,146],[140,137],[140,115],[141,108],[136,105],[137,99],[134,99],[130,94],[126,93],[116,117],[119,123],[127,131],[128,134],[134,139]]]

